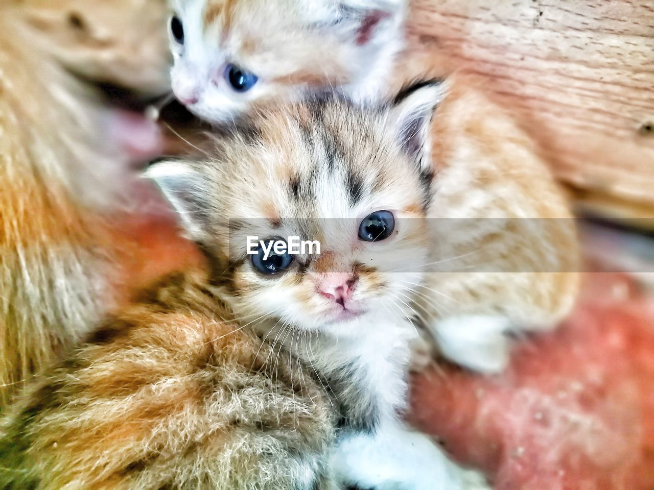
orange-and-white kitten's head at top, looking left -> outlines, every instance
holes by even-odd
[[[224,123],[254,101],[388,91],[404,0],[173,0],[173,92]]]

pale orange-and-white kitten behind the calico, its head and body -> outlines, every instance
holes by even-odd
[[[400,0],[173,5],[184,31],[183,41],[171,32],[173,91],[214,123],[235,120],[266,99],[339,91],[373,100],[388,91],[403,44]],[[258,82],[233,90],[230,64],[256,74]],[[445,153],[434,159],[432,171],[441,178],[429,229],[431,263],[440,267],[431,267],[428,284],[407,286],[417,289],[415,309],[441,352],[490,374],[508,362],[507,333],[551,328],[570,310],[578,253],[568,205],[538,151],[510,118],[492,114],[497,108],[473,93],[465,96],[469,106],[450,97],[456,103],[445,110],[454,116],[438,129],[436,151]]]

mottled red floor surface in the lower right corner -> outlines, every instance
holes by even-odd
[[[500,490],[651,490],[653,303],[625,276],[587,273],[572,318],[515,346],[502,376],[417,377],[412,419]]]

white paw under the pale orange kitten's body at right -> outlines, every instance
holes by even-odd
[[[503,316],[464,315],[430,325],[444,357],[484,374],[502,372],[509,364],[511,322]]]

